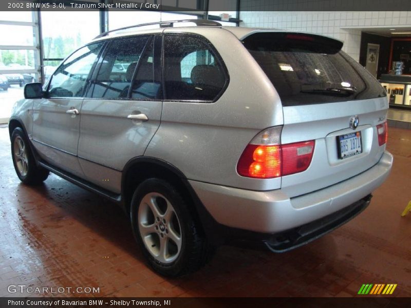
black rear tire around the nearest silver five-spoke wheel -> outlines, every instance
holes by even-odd
[[[162,200],[163,198],[165,198],[165,200]],[[166,208],[162,213],[164,216],[160,215],[160,222],[157,221],[156,215],[153,215],[151,218],[152,221],[149,221],[150,214],[147,213],[152,211],[153,214],[154,211],[152,207],[145,202],[147,200],[155,200],[151,205],[157,204],[157,208]],[[171,207],[167,204],[167,201],[172,205]],[[161,206],[160,203],[162,203]],[[163,217],[167,217],[166,213],[169,213],[171,209],[174,210],[172,218],[169,221],[164,221],[164,224],[162,224]],[[130,206],[130,217],[136,241],[141,247],[150,266],[160,275],[178,277],[195,272],[204,265],[211,256],[212,249],[208,246],[205,236],[201,235],[199,226],[194,221],[188,204],[186,204],[180,192],[170,183],[154,178],[141,183],[133,195]],[[150,231],[147,231],[143,240],[140,233],[140,224],[146,224],[147,228],[153,228],[152,226],[154,225],[155,232],[150,233]],[[178,235],[177,224],[180,229],[180,248],[178,248],[179,244],[176,244],[178,241],[174,241],[172,237],[173,234]],[[163,225],[163,229],[161,229],[161,225]],[[145,232],[144,229],[143,231]],[[164,237],[161,234],[163,234]],[[162,237],[164,239],[161,239]],[[165,258],[161,260],[162,240],[167,243],[165,244],[165,247],[167,247],[165,250],[168,249],[170,252],[168,256],[172,261],[166,261]],[[150,251],[147,247],[151,247]],[[155,256],[155,249],[157,249],[160,257]],[[175,255],[173,255],[173,253],[175,253]],[[173,260],[173,258],[175,259]]]

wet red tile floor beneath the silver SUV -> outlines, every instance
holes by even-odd
[[[21,184],[9,148],[0,127],[1,296],[39,296],[8,292],[18,284],[57,292],[42,296],[356,296],[363,283],[398,283],[392,296],[411,296],[411,213],[400,216],[411,200],[411,130],[390,128],[393,171],[354,220],[286,254],[222,246],[179,279],[146,266],[114,204],[54,175],[40,187]]]

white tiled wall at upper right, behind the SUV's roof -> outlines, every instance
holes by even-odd
[[[248,8],[258,7],[256,0],[243,0],[254,3]],[[240,7],[240,9],[243,6]],[[338,38],[344,42],[343,50],[359,61],[361,29],[344,29],[344,27],[409,27],[411,28],[411,11],[404,12],[297,12],[297,11],[240,11],[243,21],[240,27],[279,28],[295,31],[308,31]],[[397,29],[398,30],[398,29]],[[408,29],[407,29],[408,30]]]

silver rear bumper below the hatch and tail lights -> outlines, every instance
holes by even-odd
[[[393,156],[385,151],[375,166],[361,174],[294,198],[281,189],[253,191],[191,180],[190,184],[219,224],[278,234],[326,218],[363,200],[385,181],[392,164]]]

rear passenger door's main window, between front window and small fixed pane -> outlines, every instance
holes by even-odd
[[[127,98],[130,83],[148,37],[128,37],[110,42],[88,98]]]

